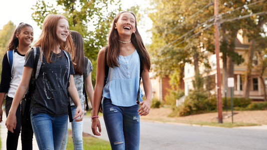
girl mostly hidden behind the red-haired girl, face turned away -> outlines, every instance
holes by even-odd
[[[91,77],[91,71],[93,70],[93,66],[91,61],[84,56],[84,41],[82,35],[74,30],[71,30],[71,36],[75,47],[75,57],[73,59],[73,62],[76,63],[74,65],[74,71],[75,74],[74,77],[74,83],[78,90],[80,102],[84,108],[85,103],[85,95],[83,93],[84,89],[84,79],[86,83],[86,90],[88,93],[88,96],[90,98],[90,102],[92,104],[93,100],[93,94],[94,94],[94,87],[92,84],[92,77]],[[72,99],[70,99],[71,102],[71,110],[72,115],[75,115],[76,106],[74,105]],[[73,120],[72,124],[72,140],[73,140],[73,149],[83,149],[83,120],[76,122]],[[65,150],[68,142],[68,128],[66,128],[64,138],[61,144],[61,149]]]

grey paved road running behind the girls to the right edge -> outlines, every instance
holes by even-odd
[[[98,137],[108,140],[103,118],[100,121],[102,135]],[[92,134],[90,117],[84,118],[84,132]],[[267,130],[141,121],[140,149],[267,149]]]

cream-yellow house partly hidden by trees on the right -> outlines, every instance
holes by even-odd
[[[242,30],[239,30],[237,34],[237,39],[235,43],[235,51],[238,52],[242,57],[244,58],[244,62],[241,63],[240,65],[234,64],[234,91],[233,91],[233,96],[242,96],[243,95],[243,76],[246,71],[246,65],[245,63],[247,62],[247,56],[246,56],[246,50],[249,47],[249,42],[247,37],[242,37],[241,35]],[[217,71],[216,71],[216,55],[212,54],[211,52],[205,52],[207,55],[209,62],[211,62],[211,71],[209,72],[209,75],[211,78],[213,78],[214,82],[217,83]],[[222,53],[220,53],[220,56]],[[252,65],[256,65],[256,58],[253,61],[254,63]],[[220,58],[219,60],[220,63],[220,74],[221,74],[221,93],[222,97],[224,97],[224,87],[223,87],[223,70],[222,70],[222,59]],[[200,64],[199,65],[199,71],[200,74],[203,74],[205,76],[206,74],[204,73],[204,65]],[[194,66],[192,66],[189,63],[185,64],[184,67],[184,88],[185,88],[185,95],[188,95],[188,91],[193,88],[192,86],[192,80],[194,79]],[[250,91],[249,91],[249,98],[253,100],[263,100],[263,91],[267,89],[267,87],[263,87],[263,85],[260,83],[260,78],[259,78],[259,73],[257,70],[252,69],[251,72],[251,86],[250,86]],[[267,76],[264,76],[265,84],[267,84]],[[267,91],[267,90],[266,90]],[[216,89],[212,89],[211,92],[215,93]]]

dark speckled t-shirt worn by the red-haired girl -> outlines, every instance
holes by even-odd
[[[43,62],[32,95],[33,114],[46,113],[52,116],[68,114],[68,58],[64,52],[62,53],[63,57],[61,53],[57,56],[53,53],[51,58],[53,62],[50,63],[47,63],[44,56],[42,57]],[[70,58],[69,53],[68,55]],[[55,57],[57,57],[56,61]],[[29,51],[24,65],[34,67],[33,49]],[[75,74],[72,61],[70,66],[70,74]]]

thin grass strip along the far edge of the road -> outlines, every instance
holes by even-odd
[[[178,122],[178,123],[187,123],[187,124],[199,124],[199,125],[210,125],[210,126],[220,126],[220,127],[237,127],[237,126],[253,126],[260,125],[256,123],[244,123],[244,122],[223,122],[218,123],[214,121],[199,121],[199,120],[173,120],[173,119],[165,119],[165,118],[157,118],[157,119],[149,119],[156,120],[162,122]]]

